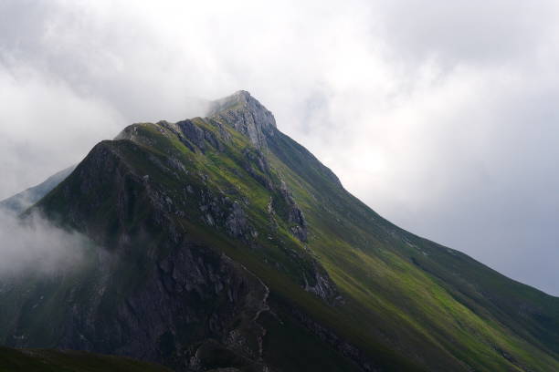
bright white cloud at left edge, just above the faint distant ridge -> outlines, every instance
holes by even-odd
[[[37,71],[0,69],[0,199],[77,163],[99,140],[124,126],[96,98],[80,97]]]

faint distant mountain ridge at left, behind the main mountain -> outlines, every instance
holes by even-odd
[[[67,178],[75,168],[76,166],[73,165],[64,171],[59,171],[58,173],[48,177],[46,181],[39,183],[37,186],[21,191],[16,195],[5,199],[0,202],[0,210],[3,209],[13,213],[25,211],[31,205],[38,202],[43,196],[47,195],[47,193],[54,189],[61,181],[64,181],[64,179]]]

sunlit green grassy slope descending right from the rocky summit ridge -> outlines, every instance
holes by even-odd
[[[286,136],[272,149],[297,200],[305,201],[311,248],[356,300],[361,321],[406,325],[476,369],[557,369],[556,298],[386,222]],[[526,307],[533,315],[522,315]]]

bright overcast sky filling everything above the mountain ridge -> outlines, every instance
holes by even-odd
[[[559,5],[0,0],[0,199],[246,89],[389,220],[559,294]]]

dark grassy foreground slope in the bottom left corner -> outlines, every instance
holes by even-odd
[[[19,350],[0,347],[1,372],[170,372],[152,363],[122,356],[78,351]]]

